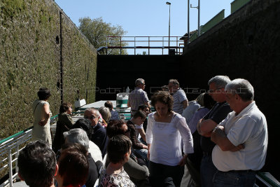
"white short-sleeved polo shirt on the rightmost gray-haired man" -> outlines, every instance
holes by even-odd
[[[232,144],[245,146],[239,151],[232,152],[222,151],[216,145],[212,159],[220,171],[258,170],[265,165],[268,141],[267,120],[255,102],[246,106],[238,115],[232,111],[219,125],[225,127],[225,134]]]

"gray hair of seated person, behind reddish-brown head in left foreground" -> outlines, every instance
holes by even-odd
[[[87,132],[80,128],[71,129],[68,132],[63,133],[64,138],[67,138],[68,143],[78,143],[82,146],[85,146],[86,149],[89,148],[89,139],[87,137]]]

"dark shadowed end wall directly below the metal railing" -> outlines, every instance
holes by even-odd
[[[148,97],[170,78],[181,79],[181,56],[169,55],[98,55],[96,99],[116,99],[127,86],[134,90],[137,78],[146,81]]]

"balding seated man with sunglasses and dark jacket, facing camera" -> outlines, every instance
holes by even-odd
[[[106,129],[99,123],[99,111],[94,108],[88,108],[85,110],[83,116],[91,121],[92,136],[90,140],[93,141],[94,144],[97,144],[102,152],[102,158],[104,158],[109,139],[106,135]]]

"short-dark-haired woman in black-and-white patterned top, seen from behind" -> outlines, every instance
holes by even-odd
[[[111,137],[107,146],[107,154],[110,160],[108,167],[102,170],[99,178],[99,187],[106,186],[130,186],[134,183],[130,180],[123,165],[130,158],[132,141],[125,135]]]

